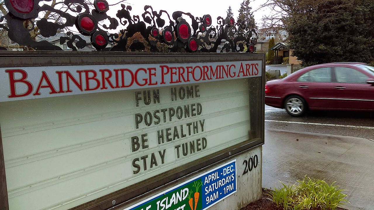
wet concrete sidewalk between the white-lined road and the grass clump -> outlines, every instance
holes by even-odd
[[[297,140],[298,139],[298,140]],[[374,210],[374,142],[368,139],[265,130],[264,188],[294,184],[305,175],[336,182],[350,210]]]

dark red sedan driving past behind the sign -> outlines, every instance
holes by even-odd
[[[265,104],[292,116],[307,109],[374,111],[374,67],[331,63],[298,70],[265,84]]]

